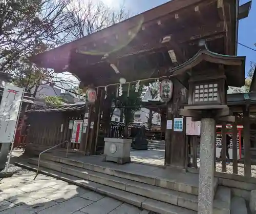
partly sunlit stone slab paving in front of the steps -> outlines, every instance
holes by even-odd
[[[0,179],[0,214],[147,214],[148,211],[22,169]]]

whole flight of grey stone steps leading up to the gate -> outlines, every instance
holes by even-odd
[[[37,158],[18,165],[36,170]],[[160,214],[196,214],[198,185],[153,178],[53,155],[42,155],[40,172]],[[231,190],[215,180],[214,214],[230,214]]]

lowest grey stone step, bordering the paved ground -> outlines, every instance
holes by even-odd
[[[25,167],[29,170],[34,170],[36,172],[36,165],[34,164],[30,164],[30,163],[16,163],[16,164],[19,166]],[[164,203],[158,200],[142,197],[142,196],[133,194],[131,192],[113,188],[107,185],[102,185],[100,183],[96,183],[90,180],[79,179],[76,176],[71,176],[66,173],[57,172],[56,170],[52,170],[49,168],[40,167],[39,172],[48,176],[61,179],[69,183],[73,183],[75,185],[78,185],[84,188],[89,188],[100,194],[115,198],[117,200],[121,200],[125,203],[129,203],[137,207],[141,207],[143,209],[154,211],[160,214],[197,214],[197,212],[194,210],[189,210],[189,209],[175,206],[172,204]]]

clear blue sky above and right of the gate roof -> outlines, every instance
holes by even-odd
[[[104,0],[103,2],[110,6],[114,6],[114,4],[117,5],[118,1],[119,4],[122,3],[122,0]],[[168,2],[168,0],[125,0],[124,5],[126,9],[129,9],[132,14],[135,15],[166,2]],[[240,5],[245,4],[246,2],[249,2],[249,0],[240,0]],[[249,17],[239,21],[238,41],[243,45],[256,49],[253,45],[256,43],[256,1],[252,1]],[[238,55],[246,56],[247,73],[250,68],[250,61],[256,61],[256,52],[238,45]]]

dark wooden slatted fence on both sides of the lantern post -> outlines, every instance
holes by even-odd
[[[244,179],[249,179],[253,177],[251,171],[253,169],[251,165],[256,165],[256,160],[253,161],[253,152],[256,155],[256,148],[250,148],[250,123],[244,123],[243,129],[238,128],[237,123],[231,124],[229,128],[231,129],[228,129],[227,131],[226,124],[223,123],[220,129],[221,131],[216,132],[216,176],[228,176],[233,178],[243,177]],[[227,134],[231,135],[231,142],[228,146],[228,150],[226,142]],[[200,137],[186,137],[188,145],[188,168],[198,169],[200,167]],[[227,152],[229,158],[227,158]],[[254,174],[256,176],[256,172]]]

